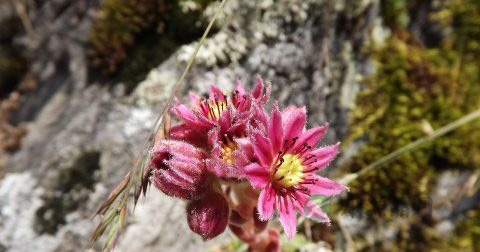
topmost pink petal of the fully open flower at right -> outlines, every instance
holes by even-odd
[[[282,119],[284,139],[300,137],[307,122],[307,111],[305,107],[290,107],[282,112]]]

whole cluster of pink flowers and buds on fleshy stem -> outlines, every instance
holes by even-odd
[[[267,225],[275,210],[291,238],[311,195],[346,189],[316,174],[338,152],[339,144],[317,147],[328,124],[306,129],[305,107],[281,111],[275,102],[268,113],[269,96],[260,78],[248,92],[238,82],[229,96],[215,86],[209,98],[191,94],[190,107],[171,110],[181,123],[150,151],[152,183],[189,201],[188,224],[205,240],[229,226],[251,251],[278,251],[279,235]]]

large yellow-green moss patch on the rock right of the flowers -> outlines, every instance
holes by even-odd
[[[449,14],[451,22],[444,25],[455,35],[438,48],[425,48],[408,32],[397,30],[385,48],[371,49],[377,71],[364,81],[346,141],[367,142],[345,171],[359,171],[426,136],[425,125],[436,129],[480,108],[480,59],[476,47],[467,46],[480,42],[480,26],[471,26],[480,21],[480,4],[473,7],[468,18],[462,17],[463,11]],[[471,122],[369,172],[351,184],[342,205],[378,216],[405,205],[421,209],[439,171],[480,167],[479,129],[478,120]]]

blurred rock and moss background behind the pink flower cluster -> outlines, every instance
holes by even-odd
[[[215,0],[0,0],[0,252],[98,251],[92,216],[142,150]],[[342,141],[339,179],[480,109],[478,0],[229,0],[179,99],[259,74]],[[480,120],[362,173],[285,251],[480,251]],[[242,250],[243,249],[243,250]],[[150,190],[116,251],[204,243]]]

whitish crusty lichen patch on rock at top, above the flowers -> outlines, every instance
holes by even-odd
[[[218,17],[221,30],[205,40],[197,55],[197,64],[215,66],[237,62],[249,49],[269,38],[285,37],[284,25],[302,25],[312,4],[323,1],[301,0],[231,0]],[[210,5],[204,12],[211,19],[219,3]],[[185,45],[178,52],[179,61],[187,61],[196,43]]]

